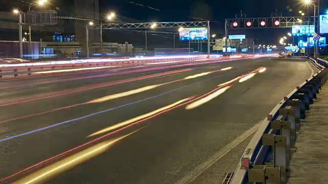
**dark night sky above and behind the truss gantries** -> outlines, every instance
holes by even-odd
[[[100,0],[101,11],[114,10],[117,14],[141,21],[190,21],[210,20],[212,33],[218,38],[224,36],[224,19],[234,18],[242,11],[247,17],[270,17],[273,12],[283,16],[299,16],[302,10],[313,15],[313,7],[304,7],[303,0]],[[321,0],[321,10],[326,9],[328,0]],[[324,13],[325,11],[320,11]],[[278,43],[278,39],[291,29],[231,30],[229,34],[245,34],[247,38],[257,38],[258,42]]]

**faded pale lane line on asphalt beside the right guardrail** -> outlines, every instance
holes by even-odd
[[[237,145],[239,145],[241,142],[243,142],[245,139],[247,139],[250,135],[252,135],[254,132],[256,132],[257,129],[260,127],[261,122],[257,123],[252,128],[246,130],[244,133],[242,133],[241,135],[236,137],[235,140],[228,143],[226,146],[224,146],[218,152],[214,153],[214,155],[212,155],[205,162],[198,165],[195,169],[193,169],[189,173],[185,174],[185,176],[183,176],[175,184],[185,184],[185,183],[189,183],[189,182],[193,181],[194,179],[196,179],[200,174],[202,174],[204,171],[209,169],[213,164],[215,164],[220,158],[222,158],[224,155],[229,153],[233,148],[235,148]]]

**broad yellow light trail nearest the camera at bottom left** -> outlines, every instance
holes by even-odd
[[[142,128],[140,128],[142,129]],[[26,176],[23,179],[20,179],[14,183],[25,183],[25,184],[29,184],[29,183],[40,183],[40,182],[44,182],[45,180],[47,180],[47,178],[50,178],[54,175],[58,175],[64,171],[67,171],[68,169],[71,169],[72,167],[84,163],[86,162],[88,159],[95,157],[97,155],[99,155],[100,153],[103,153],[104,151],[106,151],[109,146],[111,146],[112,144],[118,142],[121,139],[124,139],[125,137],[139,131],[140,129],[131,132],[127,135],[121,136],[118,139],[115,139],[113,141],[106,141],[103,143],[99,143],[95,146],[92,146],[86,150],[83,150],[79,153],[76,153],[72,156],[69,156],[63,160],[58,161],[57,163],[54,163],[50,166],[47,166],[43,169],[40,169],[39,171],[36,171],[35,173]]]

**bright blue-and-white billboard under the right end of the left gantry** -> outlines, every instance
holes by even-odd
[[[180,28],[179,30],[180,41],[188,40],[207,40],[207,28]]]

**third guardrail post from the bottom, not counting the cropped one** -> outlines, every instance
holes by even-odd
[[[291,122],[291,148],[294,148],[296,143],[295,110],[292,106],[280,108],[279,116],[285,116],[286,120]]]

